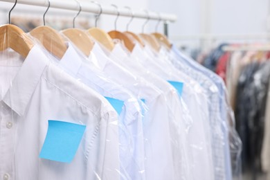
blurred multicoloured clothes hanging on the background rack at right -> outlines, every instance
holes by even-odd
[[[230,103],[235,111],[237,132],[242,140],[242,166],[251,170],[253,178],[266,172],[270,179],[269,128],[269,52],[254,50],[223,51],[218,46],[202,64],[224,79]],[[243,45],[233,44],[241,47]]]

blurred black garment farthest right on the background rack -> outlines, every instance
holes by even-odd
[[[267,93],[269,92],[270,63],[262,62],[260,69],[255,72],[251,82],[250,94],[252,109],[249,111],[248,125],[251,136],[249,138],[249,149],[251,150],[251,161],[258,162],[256,167],[262,167],[261,152],[264,140],[264,126],[266,124],[265,112],[267,111]],[[255,95],[255,96],[254,96]],[[267,132],[265,132],[267,133]]]

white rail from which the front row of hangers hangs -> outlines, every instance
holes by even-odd
[[[15,0],[0,0],[9,3],[15,3]],[[18,0],[17,3],[32,5],[32,6],[41,6],[47,7],[47,0]],[[63,0],[50,0],[51,8],[58,8],[63,10],[75,10],[78,11],[78,3],[76,1],[63,1]],[[98,14],[100,12],[100,7],[91,3],[91,1],[80,1],[82,6],[82,12],[91,12]],[[127,8],[118,8],[120,16],[123,17],[132,17],[132,13]],[[132,10],[133,16],[141,19],[153,19],[161,21],[171,21],[174,22],[177,20],[176,15],[165,14],[165,13],[156,13],[149,11],[148,13],[145,10]],[[102,15],[117,15],[116,9],[112,6],[102,6]]]

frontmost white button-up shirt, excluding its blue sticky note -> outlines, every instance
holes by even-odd
[[[0,177],[120,179],[118,118],[109,102],[34,46],[24,60],[0,55]],[[71,163],[39,158],[48,120],[86,125]]]

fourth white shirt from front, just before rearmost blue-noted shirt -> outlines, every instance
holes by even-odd
[[[136,44],[132,53],[128,55],[120,44],[116,44],[110,57],[114,61],[123,64],[129,72],[145,78],[145,80],[152,82],[156,87],[159,87],[159,89],[163,91],[170,112],[170,134],[174,137],[172,151],[174,156],[174,170],[177,172],[175,176],[177,179],[191,179],[189,172],[190,164],[188,156],[186,155],[188,153],[188,145],[186,144],[187,135],[185,131],[186,127],[188,128],[189,125],[186,125],[184,120],[184,107],[181,105],[179,95],[172,85],[159,78],[159,76],[151,71],[147,71],[147,69],[138,62],[137,58],[146,60],[143,52],[139,51],[138,48],[140,47]]]

